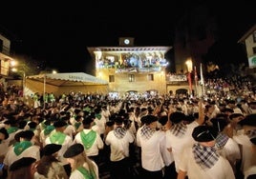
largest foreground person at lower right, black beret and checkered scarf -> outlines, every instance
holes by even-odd
[[[197,141],[183,150],[178,179],[235,179],[229,162],[215,148],[218,131],[211,126],[198,126],[192,136]]]

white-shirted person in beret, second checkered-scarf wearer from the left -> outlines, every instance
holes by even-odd
[[[144,125],[137,131],[137,145],[141,148],[141,179],[162,179],[164,160],[163,150],[166,150],[165,136],[157,130],[159,118],[155,115],[144,115],[141,117]]]

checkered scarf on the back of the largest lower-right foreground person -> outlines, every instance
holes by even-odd
[[[211,169],[220,158],[214,147],[203,147],[197,143],[192,149],[196,163],[202,169]]]

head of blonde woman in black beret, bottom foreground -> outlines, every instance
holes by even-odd
[[[74,144],[69,147],[63,154],[67,161],[70,163],[71,168],[74,170],[79,166],[82,166],[86,161],[86,154],[82,144]]]

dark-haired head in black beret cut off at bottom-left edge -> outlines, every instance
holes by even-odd
[[[36,160],[32,157],[23,157],[13,162],[8,171],[8,179],[32,179],[36,171]]]

